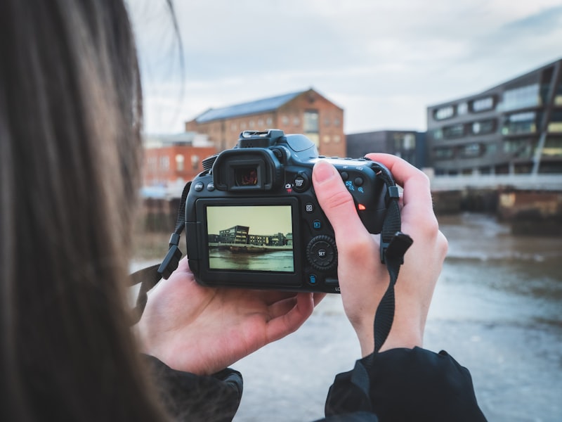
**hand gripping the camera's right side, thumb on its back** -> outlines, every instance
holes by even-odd
[[[393,155],[367,157],[388,167],[396,183],[403,186],[402,231],[414,240],[400,267],[394,322],[381,352],[395,347],[421,347],[433,289],[447,254],[447,240],[433,213],[426,175]],[[379,258],[380,236],[367,232],[351,194],[332,165],[318,162],[313,184],[320,207],[334,227],[341,299],[365,357],[374,350],[374,314],[389,283],[388,271]]]

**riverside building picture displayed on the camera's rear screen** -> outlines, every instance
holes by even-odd
[[[210,270],[293,272],[291,205],[209,205]]]

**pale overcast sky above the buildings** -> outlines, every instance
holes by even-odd
[[[313,87],[346,134],[426,129],[426,107],[562,58],[562,0],[129,0],[145,132]]]

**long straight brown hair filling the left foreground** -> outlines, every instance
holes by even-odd
[[[164,414],[124,306],[141,151],[121,0],[0,2],[1,420]]]

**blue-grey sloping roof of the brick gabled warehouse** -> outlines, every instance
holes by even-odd
[[[283,94],[270,98],[263,98],[261,100],[250,101],[249,103],[235,104],[223,108],[211,108],[195,117],[197,123],[211,122],[212,120],[223,120],[231,117],[240,117],[245,115],[252,115],[257,113],[266,113],[268,111],[277,110],[284,104],[296,98],[306,91],[292,92],[290,94]]]

